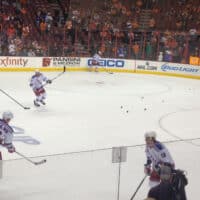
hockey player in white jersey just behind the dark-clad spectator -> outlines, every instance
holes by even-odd
[[[156,140],[156,133],[154,131],[145,133],[145,141],[147,162],[144,165],[144,171],[150,176],[149,186],[154,187],[160,183],[160,166],[167,165],[173,169],[175,164],[168,149]]]

